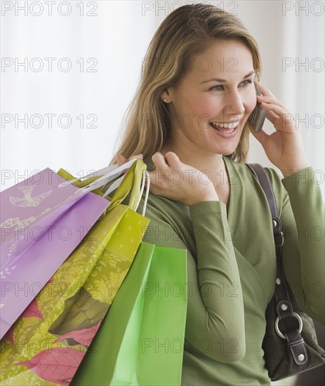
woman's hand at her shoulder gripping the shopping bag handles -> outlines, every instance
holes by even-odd
[[[142,154],[133,158],[143,158]],[[126,159],[117,157],[117,164],[123,165]],[[152,156],[155,170],[150,171],[150,192],[158,196],[180,201],[187,206],[201,201],[219,201],[213,183],[208,177],[192,166],[183,164],[173,152],[165,157],[157,152]]]

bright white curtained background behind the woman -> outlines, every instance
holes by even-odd
[[[46,167],[81,176],[106,166],[152,35],[194,2],[1,1],[1,190]],[[324,191],[324,1],[201,2],[256,36],[261,82],[301,121]],[[248,161],[272,166],[253,137]]]

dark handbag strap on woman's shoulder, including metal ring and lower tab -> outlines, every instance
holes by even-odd
[[[264,190],[267,202],[270,206],[270,211],[272,215],[272,224],[273,224],[273,235],[274,235],[274,244],[275,251],[277,255],[277,279],[275,280],[275,300],[276,300],[276,310],[277,310],[277,319],[275,319],[274,328],[277,331],[277,334],[280,338],[286,340],[286,345],[291,350],[293,360],[298,365],[305,364],[308,361],[307,351],[305,347],[305,340],[301,336],[301,331],[303,329],[303,321],[298,315],[294,312],[293,305],[288,292],[288,283],[286,277],[284,276],[284,270],[282,266],[282,246],[284,244],[284,234],[282,232],[282,224],[279,218],[279,211],[277,208],[277,201],[275,199],[274,191],[268,177],[265,168],[260,164],[246,164],[248,168],[251,169],[253,175],[260,182],[261,187]],[[290,319],[287,319],[290,318]],[[279,329],[279,321],[286,319],[286,321],[291,321],[289,326],[297,326],[291,331],[286,333],[281,333]],[[296,319],[292,324],[293,319]],[[277,353],[274,353],[274,355]]]

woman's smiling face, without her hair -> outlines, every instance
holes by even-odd
[[[171,114],[172,142],[232,154],[256,106],[251,51],[240,41],[215,41],[162,98]]]

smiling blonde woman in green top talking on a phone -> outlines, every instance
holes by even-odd
[[[138,154],[151,171],[144,241],[188,251],[182,385],[270,384],[262,342],[274,239],[263,190],[244,164],[250,132],[285,176],[267,168],[286,278],[303,310],[324,323],[324,292],[303,289],[316,281],[324,288],[323,240],[301,233],[322,224],[321,192],[300,129],[284,122],[289,113],[258,83],[260,72],[258,46],[240,20],[203,4],[176,9],[148,48],[118,150],[118,164]],[[271,135],[248,126],[256,102]]]

